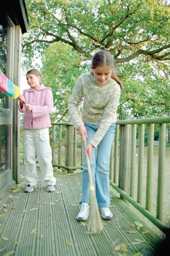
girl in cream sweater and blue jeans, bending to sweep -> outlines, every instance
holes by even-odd
[[[119,81],[110,52],[101,50],[92,59],[91,72],[84,73],[77,79],[68,111],[74,127],[87,146],[84,154],[90,159],[93,184],[96,183],[96,198],[103,219],[111,219],[109,209],[109,165],[111,145],[113,142],[116,122],[116,109],[119,103],[122,83]],[[84,97],[82,120],[78,113],[78,105]],[[97,156],[96,156],[96,147]],[[77,221],[86,221],[90,213],[89,175],[86,157],[83,157],[81,209]],[[92,188],[93,190],[93,188]],[[93,212],[92,212],[93,214]]]

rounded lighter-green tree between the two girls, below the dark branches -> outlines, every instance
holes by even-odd
[[[54,113],[51,121],[68,119],[67,104],[79,75],[87,68],[82,56],[71,46],[61,42],[50,45],[42,58],[42,75],[45,86],[52,88]]]

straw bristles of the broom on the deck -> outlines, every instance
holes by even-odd
[[[102,218],[99,212],[99,206],[94,191],[94,185],[89,185],[89,201],[90,201],[90,215],[88,223],[88,231],[100,233],[103,230]]]

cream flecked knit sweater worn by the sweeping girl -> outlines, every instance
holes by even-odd
[[[78,105],[84,97],[82,119],[79,118]],[[110,78],[105,84],[99,84],[91,72],[84,73],[77,79],[71,98],[68,101],[68,111],[71,122],[77,129],[84,123],[99,125],[90,143],[96,148],[111,123],[116,122],[116,109],[119,103],[120,86]]]

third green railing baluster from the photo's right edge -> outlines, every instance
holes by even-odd
[[[140,119],[143,116],[139,117]],[[139,125],[139,158],[138,158],[138,193],[137,202],[142,205],[143,159],[144,159],[144,124]]]

